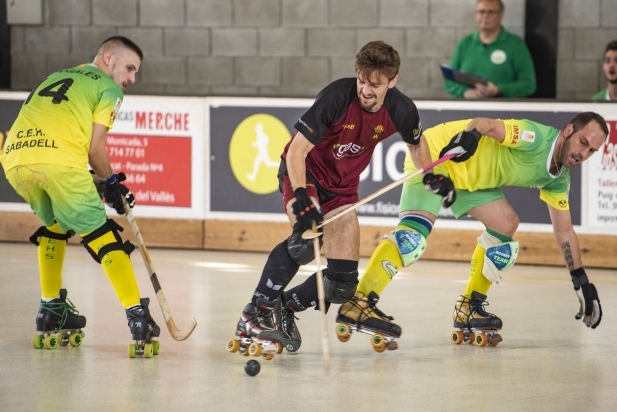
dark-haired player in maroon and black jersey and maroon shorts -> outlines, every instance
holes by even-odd
[[[399,132],[410,148],[421,127],[415,104],[396,87],[400,58],[388,44],[375,41],[356,54],[357,78],[332,82],[295,124],[297,132],[284,149],[279,169],[283,205],[292,234],[268,257],[250,303],[242,312],[236,339],[268,338],[295,352],[301,344],[294,313],[317,307],[316,275],[284,292],[300,265],[314,258],[313,241],[302,233],[358,200],[360,173],[375,146]],[[358,284],[358,218],[349,213],[324,226],[325,297],[349,300]],[[371,303],[372,304],[372,303]],[[388,324],[366,309],[375,322]],[[273,316],[271,316],[273,315]],[[238,345],[230,341],[230,350]]]

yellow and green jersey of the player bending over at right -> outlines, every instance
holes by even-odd
[[[425,130],[431,157],[436,159],[442,148],[465,130],[470,121],[442,123]],[[454,186],[470,192],[501,186],[536,187],[544,202],[568,210],[570,173],[565,167],[557,175],[549,172],[559,130],[530,120],[504,120],[504,123],[506,137],[502,143],[483,136],[469,160],[442,164]],[[409,155],[407,162],[411,163]],[[436,170],[436,173],[441,172]]]

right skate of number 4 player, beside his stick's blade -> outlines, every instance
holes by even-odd
[[[140,305],[126,310],[126,319],[129,321],[132,339],[135,343],[129,344],[129,358],[137,355],[144,355],[144,358],[151,358],[158,355],[161,351],[161,344],[157,340],[152,340],[161,334],[161,329],[150,316],[148,305],[150,298],[142,298]]]

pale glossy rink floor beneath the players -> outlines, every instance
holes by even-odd
[[[0,411],[614,411],[617,410],[617,272],[589,270],[604,318],[596,330],[574,319],[578,301],[565,268],[517,265],[489,294],[504,322],[497,347],[453,345],[452,308],[467,266],[420,261],[399,273],[379,307],[403,328],[399,349],[376,353],[368,335],[347,343],[328,314],[331,374],[324,375],[319,313],[299,315],[295,355],[260,359],[226,351],[266,255],[151,250],[178,327],[171,339],[138,253],[143,296],[161,325],[161,353],[129,359],[124,310],[100,267],[70,245],[64,287],[88,320],[78,348],[35,350],[30,339],[40,290],[36,248],[0,243]],[[361,268],[366,260],[360,262]],[[314,271],[302,268],[292,284]]]

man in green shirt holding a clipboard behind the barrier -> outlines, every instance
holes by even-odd
[[[456,46],[450,66],[483,76],[487,84],[475,87],[446,80],[446,92],[455,98],[523,98],[536,90],[536,71],[525,42],[501,26],[504,5],[501,0],[478,0],[478,31],[464,37]]]

